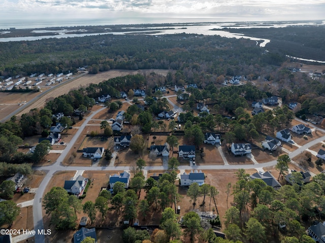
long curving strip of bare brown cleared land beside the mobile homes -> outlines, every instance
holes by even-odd
[[[31,109],[40,109],[45,106],[45,103],[47,100],[58,97],[60,95],[68,93],[70,90],[73,89],[79,89],[81,87],[86,87],[90,83],[98,84],[102,81],[119,77],[119,76],[125,76],[125,75],[135,75],[135,74],[150,74],[150,73],[156,73],[160,74],[163,76],[166,76],[169,70],[110,70],[107,72],[101,72],[96,75],[84,75],[81,76],[80,78],[75,78],[69,82],[64,82],[62,85],[55,87],[51,89],[48,93],[41,93],[40,95],[38,94],[38,98],[34,102],[28,102],[23,105],[23,106],[18,106],[17,103],[20,102],[21,100],[21,94],[11,94],[12,97],[15,97],[11,100],[12,103],[14,103],[14,106],[10,106],[10,109],[2,110],[0,113],[0,120],[4,122],[4,118],[9,119],[11,116],[16,115],[16,116],[21,116],[24,113],[27,113]],[[6,104],[7,105],[7,104]],[[10,104],[8,104],[10,105]],[[14,114],[19,109],[17,114]]]

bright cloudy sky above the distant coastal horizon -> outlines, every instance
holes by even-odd
[[[0,23],[125,17],[322,20],[325,0],[1,0],[0,10]]]

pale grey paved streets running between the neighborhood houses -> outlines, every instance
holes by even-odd
[[[165,97],[172,97],[173,95],[170,96],[165,96]],[[169,100],[169,99],[168,99]],[[170,100],[169,100],[170,102]],[[173,107],[175,109],[175,111],[180,111],[178,106],[173,104]],[[81,135],[83,129],[85,128],[85,126],[88,124],[88,122],[91,120],[91,118],[96,115],[97,113],[101,112],[102,110],[106,109],[105,107],[99,109],[98,111],[92,112],[83,122],[83,124],[79,127],[78,131],[76,132],[76,134],[73,136],[71,142],[67,145],[67,147],[64,149],[64,151],[62,151],[61,155],[58,157],[57,161],[49,166],[41,166],[41,167],[35,167],[34,169],[37,170],[42,170],[46,173],[45,178],[43,179],[39,189],[36,191],[35,194],[35,198],[34,198],[34,203],[33,203],[33,219],[34,219],[34,230],[36,230],[36,232],[38,232],[38,230],[42,230],[44,229],[44,224],[43,224],[43,214],[42,214],[42,197],[44,194],[44,191],[48,185],[48,183],[50,182],[50,180],[52,179],[52,176],[54,175],[54,173],[56,171],[61,171],[61,170],[70,170],[70,171],[82,171],[82,170],[110,170],[110,171],[121,171],[121,170],[129,170],[129,166],[114,166],[113,163],[110,163],[109,166],[96,166],[96,167],[89,167],[89,166],[63,166],[62,165],[62,161],[64,160],[64,158],[68,155],[70,149],[72,149],[72,147],[74,146],[75,142],[77,141],[77,138]],[[319,128],[317,128],[318,130],[321,130]],[[324,130],[322,130],[324,131]],[[325,131],[324,131],[325,132]],[[322,136],[320,138],[317,138],[316,140],[313,140],[311,142],[309,142],[308,144],[301,146],[300,148],[298,148],[297,150],[295,150],[294,152],[289,153],[289,157],[293,158],[295,156],[297,156],[298,154],[304,152],[306,149],[308,149],[309,147],[322,142],[323,140],[325,140],[325,136]],[[115,157],[115,155],[114,155]],[[257,161],[256,161],[257,162]],[[277,163],[276,160],[272,160],[266,163],[261,163],[261,164],[243,164],[243,165],[230,165],[228,163],[225,163],[224,165],[200,165],[200,166],[190,166],[190,165],[182,165],[179,166],[179,170],[180,171],[185,171],[185,170],[189,170],[189,169],[202,169],[202,170],[215,170],[215,169],[252,169],[252,168],[261,168],[261,167],[269,167],[269,166],[274,166]],[[168,166],[166,163],[164,163],[163,166],[146,166],[145,170],[167,170]],[[47,230],[47,229],[45,229]],[[13,242],[18,242],[21,241],[23,239],[26,239],[26,235],[25,238],[21,237],[21,235],[19,237],[13,237]],[[38,243],[44,243],[45,242],[45,236],[42,234],[36,234],[35,235],[35,242]]]

